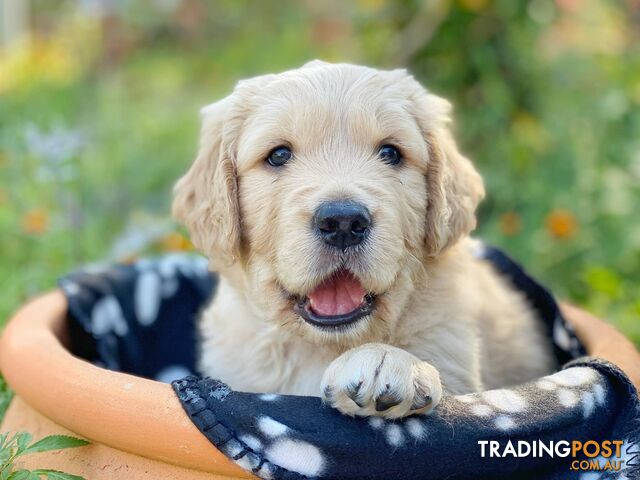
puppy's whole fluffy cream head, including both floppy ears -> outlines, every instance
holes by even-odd
[[[203,109],[174,215],[272,321],[383,340],[424,263],[475,226],[482,181],[449,113],[404,70],[312,62],[242,81]]]

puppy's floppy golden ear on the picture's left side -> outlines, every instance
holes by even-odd
[[[238,185],[223,133],[230,104],[231,96],[202,109],[198,155],[173,190],[173,216],[214,268],[233,264],[240,253]]]

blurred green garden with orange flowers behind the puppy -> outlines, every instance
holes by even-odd
[[[80,264],[189,249],[169,205],[199,108],[321,58],[452,100],[477,235],[640,346],[639,0],[0,6],[0,325]]]

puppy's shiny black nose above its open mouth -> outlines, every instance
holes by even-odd
[[[327,202],[316,210],[313,224],[327,245],[344,250],[364,240],[371,215],[360,203]]]

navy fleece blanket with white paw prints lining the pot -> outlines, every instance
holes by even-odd
[[[621,458],[611,458],[621,470],[584,478],[640,478],[640,405],[628,378],[584,357],[550,293],[505,254],[484,247],[478,261],[491,262],[531,302],[559,371],[513,388],[445,397],[431,415],[397,421],[350,418],[317,397],[236,392],[198,377],[195,319],[217,283],[203,258],[93,266],[62,278],[60,287],[76,355],[172,382],[206,438],[261,478],[579,478],[571,469],[576,458],[517,457],[510,440],[516,447],[519,440],[530,446],[622,440]],[[495,441],[500,457],[491,456]]]

